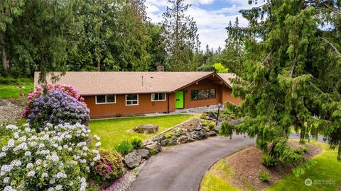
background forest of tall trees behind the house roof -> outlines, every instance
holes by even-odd
[[[188,4],[168,1],[151,23],[144,0],[5,0],[0,3],[1,76],[34,71],[212,71],[229,48],[200,50]],[[230,41],[230,40],[229,40]],[[227,42],[229,45],[231,42]],[[233,69],[232,69],[233,71]]]

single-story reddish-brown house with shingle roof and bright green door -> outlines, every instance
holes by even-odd
[[[102,118],[226,102],[237,105],[241,100],[232,96],[229,79],[233,77],[210,71],[68,71],[58,82],[77,89],[90,108],[90,117]]]

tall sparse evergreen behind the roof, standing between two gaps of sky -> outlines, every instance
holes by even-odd
[[[163,27],[167,44],[168,68],[173,71],[193,71],[193,51],[200,46],[197,26],[193,17],[186,16],[189,4],[184,0],[168,0],[163,13]]]

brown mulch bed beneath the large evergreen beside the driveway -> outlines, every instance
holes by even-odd
[[[305,154],[305,158],[311,158],[321,151],[312,144],[301,145],[296,140],[289,141],[289,144],[295,148],[307,147],[308,153]],[[294,167],[292,165],[283,166],[279,164],[274,168],[266,168],[262,164],[262,151],[257,149],[256,146],[243,149],[242,151],[227,156],[224,160],[234,171],[234,176],[233,178],[229,178],[229,183],[241,190],[249,190],[247,189],[247,183],[253,186],[255,190],[264,190],[264,188],[273,185],[274,182],[281,179],[283,175],[291,173]],[[262,183],[259,180],[260,171],[269,171],[269,183]]]

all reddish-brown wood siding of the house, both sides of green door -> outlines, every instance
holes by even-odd
[[[190,91],[201,89],[215,88],[216,96],[207,100],[191,100]],[[234,98],[232,96],[232,90],[223,86],[220,83],[212,83],[209,79],[204,79],[191,86],[183,88],[184,91],[184,108],[197,108],[207,105],[217,105],[226,102],[238,105],[241,103],[240,98]],[[166,95],[166,101],[151,101],[151,94],[139,94],[139,105],[126,105],[126,95],[117,95],[116,103],[109,104],[96,104],[95,96],[85,96],[85,102],[87,107],[90,108],[90,117],[92,118],[104,118],[115,117],[124,115],[139,115],[153,112],[173,112],[175,111],[175,93],[168,93]]]

